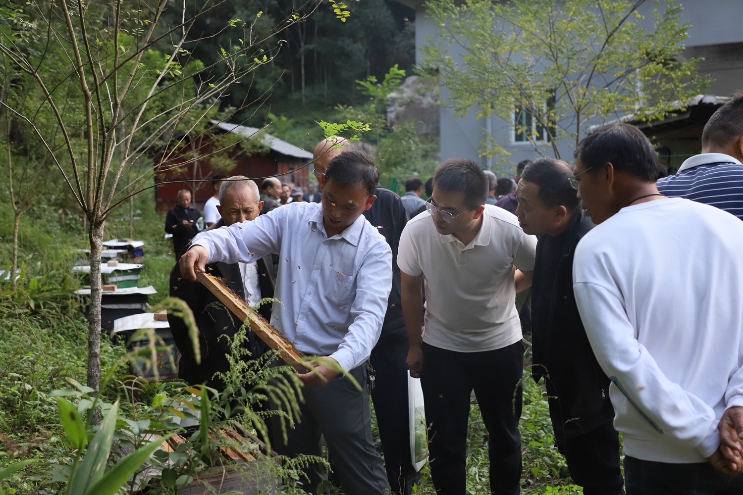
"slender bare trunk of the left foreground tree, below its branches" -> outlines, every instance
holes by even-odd
[[[103,228],[105,220],[93,217],[88,237],[91,245],[91,300],[88,310],[88,387],[95,393],[100,389],[100,298],[103,284],[100,279],[100,255],[103,251]],[[94,424],[97,424],[97,413]]]

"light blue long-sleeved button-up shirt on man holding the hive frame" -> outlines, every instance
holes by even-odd
[[[321,203],[291,203],[252,222],[204,232],[210,263],[252,263],[279,253],[271,324],[307,355],[329,355],[345,370],[379,339],[392,286],[392,252],[361,215],[328,237]]]

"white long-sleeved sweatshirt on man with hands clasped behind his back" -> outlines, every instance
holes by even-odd
[[[705,462],[743,406],[743,222],[678,197],[627,206],[580,240],[573,283],[624,453]]]

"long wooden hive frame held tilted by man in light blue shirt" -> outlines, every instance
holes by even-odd
[[[221,301],[227,309],[240,318],[243,323],[249,323],[250,330],[256,333],[268,347],[279,351],[282,359],[291,364],[297,370],[311,369],[309,364],[302,363],[302,353],[296,350],[288,338],[271,326],[258,312],[250,309],[250,306],[243,301],[239,295],[231,291],[221,280],[208,273],[196,271],[196,278],[204,284],[207,289]]]

